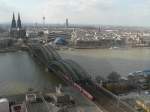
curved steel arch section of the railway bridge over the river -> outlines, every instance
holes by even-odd
[[[76,62],[64,60],[50,45],[31,44],[30,52],[56,75],[65,75],[74,82],[85,83],[90,79],[88,73]]]

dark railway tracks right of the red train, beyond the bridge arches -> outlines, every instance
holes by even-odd
[[[82,87],[95,97],[95,104],[105,110],[104,112],[135,112],[122,104],[122,102],[118,104],[118,100],[94,85],[82,85]]]

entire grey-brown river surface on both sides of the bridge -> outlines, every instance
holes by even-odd
[[[60,55],[80,64],[95,77],[107,77],[112,71],[122,76],[137,70],[150,69],[150,48],[61,50]],[[0,95],[42,90],[62,81],[48,73],[27,52],[0,53]]]

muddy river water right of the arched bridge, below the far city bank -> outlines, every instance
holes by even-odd
[[[72,59],[95,77],[107,77],[112,71],[122,76],[138,70],[150,69],[150,48],[75,49],[60,50],[65,59]]]

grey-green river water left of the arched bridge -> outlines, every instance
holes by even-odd
[[[27,52],[0,53],[0,95],[42,90],[62,83],[44,70]]]

